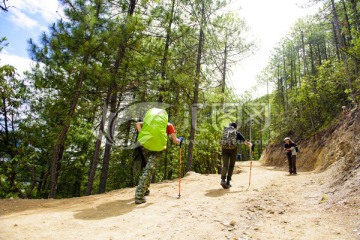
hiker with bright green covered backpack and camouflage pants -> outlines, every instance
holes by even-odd
[[[156,160],[166,149],[168,135],[175,144],[180,144],[184,138],[176,137],[176,129],[168,122],[167,112],[159,108],[149,109],[143,122],[137,122],[135,126],[139,132],[137,141],[147,162],[135,191],[135,203],[141,204],[146,202],[145,195],[150,193],[151,175],[155,170]]]

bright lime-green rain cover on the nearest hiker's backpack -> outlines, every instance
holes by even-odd
[[[165,110],[159,108],[149,109],[145,114],[138,142],[150,151],[163,151],[167,142],[167,124],[168,115]]]

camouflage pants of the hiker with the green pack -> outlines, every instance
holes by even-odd
[[[135,191],[136,199],[144,198],[145,192],[149,189],[150,186],[151,176],[156,167],[156,161],[162,154],[162,152],[153,152],[145,148],[142,148],[142,151],[147,163],[144,169],[144,173],[140,177],[138,186],[136,187],[136,191]]]

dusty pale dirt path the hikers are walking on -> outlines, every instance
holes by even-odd
[[[189,173],[150,186],[64,200],[1,200],[0,239],[360,239],[360,211],[327,201],[323,176],[237,163],[230,190],[219,175]],[[241,166],[240,166],[241,165]],[[327,194],[327,195],[326,195]]]

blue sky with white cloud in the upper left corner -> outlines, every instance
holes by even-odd
[[[62,11],[57,0],[9,0],[7,6],[8,12],[0,12],[0,37],[6,37],[9,45],[0,53],[0,64],[11,64],[21,73],[31,64],[27,41],[38,42]]]

